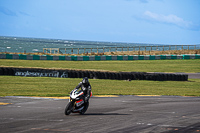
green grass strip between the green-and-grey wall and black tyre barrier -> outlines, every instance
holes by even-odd
[[[135,61],[42,61],[5,60],[0,66],[89,69],[133,72],[200,72],[200,59],[195,60],[135,60]]]

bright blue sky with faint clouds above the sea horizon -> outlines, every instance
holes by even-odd
[[[200,0],[0,0],[0,36],[200,44]]]

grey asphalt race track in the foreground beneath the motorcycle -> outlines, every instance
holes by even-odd
[[[0,97],[1,133],[199,133],[200,97],[92,97],[85,115],[64,115],[67,99]]]

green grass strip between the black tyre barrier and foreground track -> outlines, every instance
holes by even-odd
[[[0,96],[68,96],[82,79],[0,76]],[[93,95],[200,96],[200,79],[189,81],[90,79]]]

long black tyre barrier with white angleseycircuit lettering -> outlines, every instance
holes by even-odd
[[[60,77],[112,79],[112,80],[153,80],[153,81],[187,81],[187,74],[176,73],[146,73],[146,72],[103,72],[84,70],[60,70],[42,68],[13,68],[0,67],[0,75],[25,76],[25,77]]]

